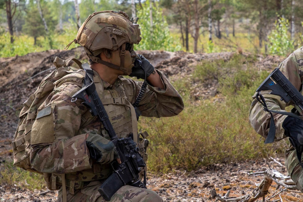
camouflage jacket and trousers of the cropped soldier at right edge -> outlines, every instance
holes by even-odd
[[[278,68],[302,94],[303,47],[289,55],[288,58],[279,64]],[[288,103],[281,101],[278,95],[269,94],[270,92],[271,91],[261,91],[269,110],[285,111],[285,107],[294,105],[291,101]],[[253,98],[254,100],[251,104],[249,119],[255,131],[266,138],[269,131],[271,116],[268,112],[262,110],[263,106],[256,100],[256,94]],[[295,109],[293,110],[296,110],[295,113],[299,116],[303,116],[303,112],[300,108],[295,106]],[[276,113],[272,114],[276,126],[275,142],[277,142],[286,137],[282,123],[287,116]],[[299,164],[296,151],[291,144],[289,145],[289,149],[285,151],[285,165],[289,176],[291,176],[291,179],[295,182],[299,190],[303,192],[303,169]]]

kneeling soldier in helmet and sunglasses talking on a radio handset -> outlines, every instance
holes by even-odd
[[[165,75],[135,53],[134,44],[141,41],[138,26],[124,12],[96,12],[86,19],[73,42],[82,45],[90,59],[96,90],[115,133],[119,138],[133,134],[135,139],[137,135],[137,146],[146,161],[147,133],[138,134],[132,106],[143,82],[122,75],[147,78],[148,86],[138,105],[142,116],[174,116],[184,104]],[[143,69],[133,68],[135,59],[142,61]],[[77,75],[69,82],[58,83],[45,107],[38,110],[32,126],[30,160],[44,173],[48,188],[59,189],[58,201],[105,201],[98,188],[112,174],[109,163],[120,159],[98,118],[92,117],[82,101],[71,101],[84,79],[84,75]],[[91,152],[97,157],[93,158]],[[125,185],[110,201],[163,200],[152,190]]]

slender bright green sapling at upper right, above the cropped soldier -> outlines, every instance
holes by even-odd
[[[284,18],[279,18],[278,21],[275,22],[276,27],[271,31],[268,36],[268,52],[269,54],[283,55],[294,51],[294,40],[291,40],[290,36],[288,36],[288,20]]]

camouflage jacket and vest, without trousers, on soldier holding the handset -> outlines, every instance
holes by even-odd
[[[146,117],[177,115],[184,108],[182,98],[165,75],[161,71],[158,73],[165,90],[148,85],[138,108],[142,116]],[[115,132],[119,138],[127,137],[133,131],[131,111],[127,103],[135,103],[143,82],[119,77],[111,85],[97,73],[94,74],[94,82]],[[42,173],[65,173],[69,180],[104,179],[111,173],[110,168],[106,164],[92,163],[85,136],[87,133],[97,133],[109,137],[97,117],[93,117],[88,124],[83,124],[83,116],[88,109],[80,100],[71,101],[72,95],[79,90],[78,85],[67,82],[55,88],[50,95],[50,101],[44,108],[49,111],[39,116],[33,125],[31,164]]]

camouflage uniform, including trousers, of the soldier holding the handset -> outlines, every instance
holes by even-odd
[[[142,116],[146,117],[177,115],[184,108],[182,98],[165,75],[161,71],[158,73],[165,90],[148,85],[138,108]],[[33,124],[31,164],[44,173],[49,189],[58,190],[61,187],[58,201],[62,200],[64,178],[68,201],[105,201],[98,188],[112,173],[109,164],[96,164],[92,161],[85,141],[86,134],[90,133],[109,139],[107,132],[97,117],[87,116],[90,113],[81,104],[82,101],[71,101],[72,95],[81,89],[76,83],[82,83],[83,78],[82,72],[76,74],[72,81],[63,78],[61,83],[58,82],[57,88],[46,100],[45,107],[38,110],[38,118]],[[137,120],[134,121],[131,104],[135,103],[143,82],[119,77],[111,85],[103,81],[96,72],[94,82],[118,137],[128,137],[134,131],[137,134]],[[144,143],[144,139],[139,138],[138,147],[146,161]],[[151,200],[162,201],[151,190],[123,186],[111,201]]]

